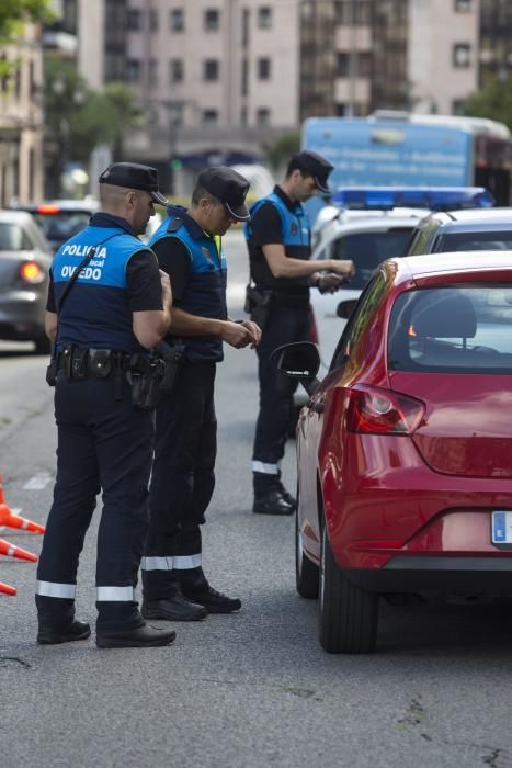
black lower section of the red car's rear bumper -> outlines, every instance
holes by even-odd
[[[391,557],[383,568],[343,569],[377,594],[512,596],[512,555],[500,557]]]

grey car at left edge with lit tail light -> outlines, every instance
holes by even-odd
[[[31,214],[0,211],[0,339],[34,341],[46,352],[44,332],[52,251]]]

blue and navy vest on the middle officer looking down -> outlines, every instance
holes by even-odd
[[[166,238],[177,238],[189,251],[192,271],[185,292],[175,305],[190,315],[226,320],[227,267],[223,249],[217,248],[215,239],[203,231],[187,214],[186,208],[170,206],[168,214],[150,239],[149,246],[152,248]],[[216,336],[180,338],[186,345],[185,357],[192,362],[220,362],[224,359],[223,341]]]

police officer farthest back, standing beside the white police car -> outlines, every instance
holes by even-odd
[[[281,483],[280,471],[296,384],[277,373],[270,355],[281,345],[307,340],[310,285],[337,290],[353,274],[352,261],[326,259],[321,262],[326,272],[320,273],[318,262],[308,260],[310,227],[301,204],[318,191],[329,191],[331,170],[320,155],[297,153],[288,162],[285,180],[251,207],[246,225],[253,297],[265,310],[257,350],[260,413],[252,455],[254,512],[289,515],[296,506]]]

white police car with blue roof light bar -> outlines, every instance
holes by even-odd
[[[320,211],[312,229],[312,259],[351,259],[355,275],[333,294],[311,291],[311,340],[320,350],[322,376],[351,310],[374,270],[403,256],[419,222],[431,211],[491,207],[483,188],[342,188]],[[319,263],[319,269],[321,264]]]

